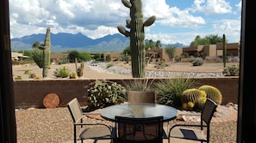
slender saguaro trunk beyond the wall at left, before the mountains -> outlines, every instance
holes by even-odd
[[[47,27],[47,34],[45,43],[43,45],[43,77],[47,77],[48,69],[50,68],[50,57],[51,57],[51,40],[50,40],[50,27]]]

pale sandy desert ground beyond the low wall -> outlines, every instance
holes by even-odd
[[[168,66],[165,66],[164,69],[157,69],[155,68],[154,63],[149,63],[146,66],[146,71],[154,71],[154,72],[178,72],[178,73],[211,73],[211,74],[222,74],[223,71],[223,63],[203,63],[202,66],[193,66],[192,63],[166,63]],[[227,63],[226,67],[239,64],[239,63]],[[78,66],[80,64],[78,63]],[[108,70],[108,65],[109,69]],[[76,72],[75,63],[68,63],[68,64],[52,64],[50,69],[48,70],[47,78],[49,79],[56,79],[53,75],[53,72],[56,69],[61,67],[66,67],[70,69],[71,72]],[[115,68],[115,70],[113,70]],[[125,62],[111,62],[111,63],[91,63],[87,62],[84,63],[84,74],[82,79],[125,79],[125,78],[132,78],[132,74],[129,71],[126,71],[125,74],[121,74],[122,70],[130,70],[131,64]],[[16,76],[22,76],[22,80],[29,80],[28,74],[24,74],[26,70],[29,70],[31,73],[34,73],[38,77],[42,77],[42,69],[40,69],[35,64],[25,64],[25,65],[15,65],[13,66],[13,76],[14,79]],[[119,70],[119,71],[118,71]],[[147,77],[147,75],[146,75]],[[42,78],[41,78],[42,79]],[[59,78],[58,78],[59,79]],[[30,79],[31,80],[31,79]],[[33,80],[33,79],[32,79]]]

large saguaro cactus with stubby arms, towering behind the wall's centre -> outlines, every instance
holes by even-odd
[[[131,20],[127,20],[126,27],[130,28],[127,31],[124,27],[118,26],[117,29],[126,37],[130,37],[131,60],[132,60],[132,74],[134,78],[145,77],[145,33],[144,27],[149,27],[156,20],[153,15],[144,21],[142,13],[141,0],[122,0],[124,6],[130,9]]]

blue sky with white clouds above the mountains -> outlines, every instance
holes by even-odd
[[[190,45],[197,35],[240,41],[241,0],[142,0],[146,39],[162,44]],[[125,27],[129,9],[122,0],[9,0],[10,36],[33,33],[83,33],[98,39]],[[129,30],[129,29],[127,29]]]

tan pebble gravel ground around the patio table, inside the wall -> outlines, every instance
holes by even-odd
[[[86,118],[85,122],[112,122]],[[170,122],[188,123],[178,120]],[[190,122],[196,123],[196,122]],[[237,122],[212,122],[210,140],[213,143],[235,143]],[[66,107],[55,109],[16,110],[16,130],[18,143],[67,143],[72,142],[72,117]]]

